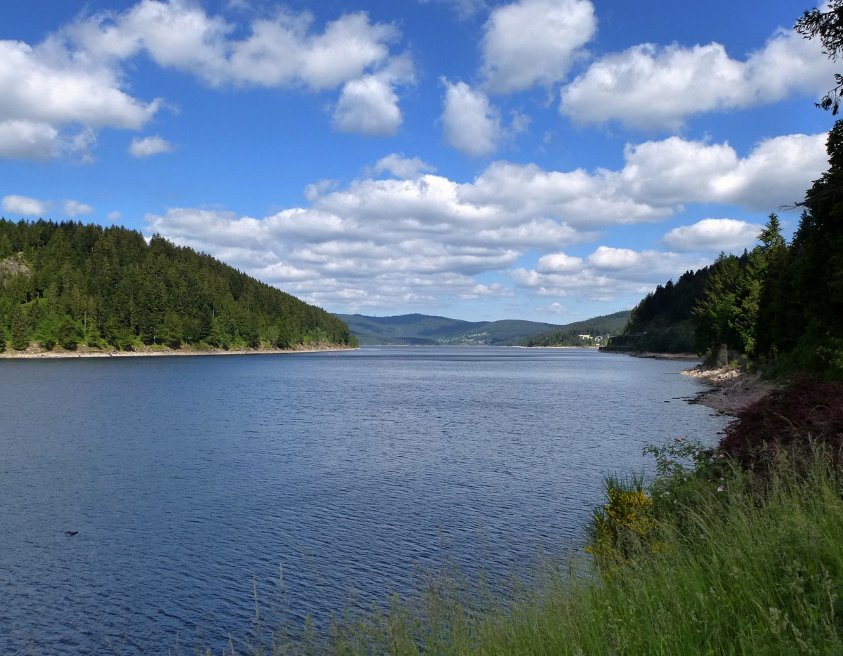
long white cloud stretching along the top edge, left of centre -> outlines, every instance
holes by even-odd
[[[395,62],[389,45],[400,30],[394,25],[345,13],[321,33],[313,28],[308,11],[277,8],[272,18],[241,25],[209,15],[198,3],[141,0],[124,13],[100,13],[65,31],[95,56],[124,60],[146,51],[158,65],[212,87],[336,89]],[[244,38],[233,36],[239,33]]]

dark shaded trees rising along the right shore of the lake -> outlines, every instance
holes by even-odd
[[[711,363],[743,358],[783,373],[843,379],[843,121],[827,148],[830,167],[798,204],[792,242],[771,214],[753,250],[721,254],[648,294],[625,330],[637,350],[659,336],[661,350],[675,350],[666,337],[673,332]]]

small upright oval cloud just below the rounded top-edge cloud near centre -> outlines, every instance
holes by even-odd
[[[471,157],[494,153],[503,136],[500,111],[489,104],[486,94],[464,82],[452,84],[443,79],[443,84],[446,141]]]

